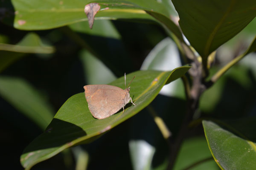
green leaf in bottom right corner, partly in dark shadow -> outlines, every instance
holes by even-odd
[[[215,162],[225,170],[253,170],[256,167],[256,119],[231,122],[203,121],[204,133]],[[236,128],[234,128],[236,127]],[[252,136],[254,136],[252,138]],[[249,139],[250,138],[250,139]]]

